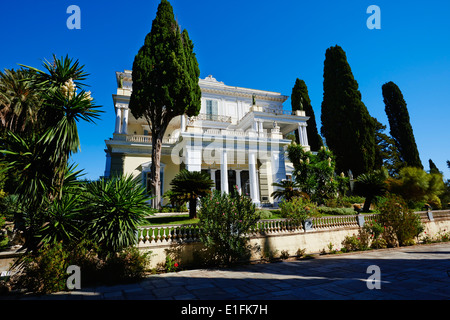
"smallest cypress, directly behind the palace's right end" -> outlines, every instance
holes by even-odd
[[[309,117],[308,126],[306,127],[309,146],[311,150],[318,151],[323,146],[322,137],[317,131],[316,116],[311,105],[311,99],[309,98],[308,87],[305,81],[298,78],[295,80],[295,85],[292,88],[291,105],[292,111],[303,110],[306,116]],[[295,131],[295,135],[297,143],[300,143],[298,130]]]

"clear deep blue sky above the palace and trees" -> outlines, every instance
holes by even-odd
[[[105,168],[105,139],[114,131],[115,71],[131,69],[150,32],[159,0],[2,1],[0,68],[41,67],[52,54],[79,59],[105,113],[96,125],[80,123],[81,151],[73,160],[86,177]],[[420,157],[450,177],[449,1],[172,0],[195,45],[201,77],[290,95],[303,79],[320,124],[323,62],[340,45],[370,114],[388,125],[381,86],[395,82],[408,104]],[[67,7],[81,9],[81,29],[69,30]],[[370,5],[381,29],[369,30]],[[285,109],[290,108],[290,100]]]

